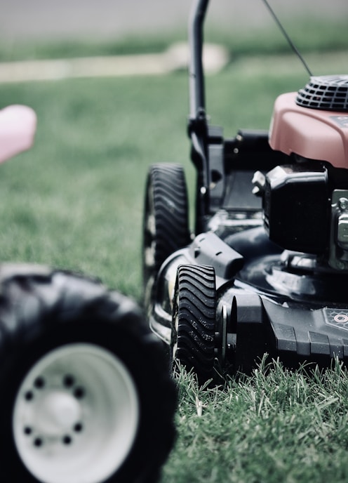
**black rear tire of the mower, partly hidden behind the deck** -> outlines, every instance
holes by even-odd
[[[154,164],[147,176],[143,220],[145,306],[164,260],[190,241],[184,170],[180,164]]]

